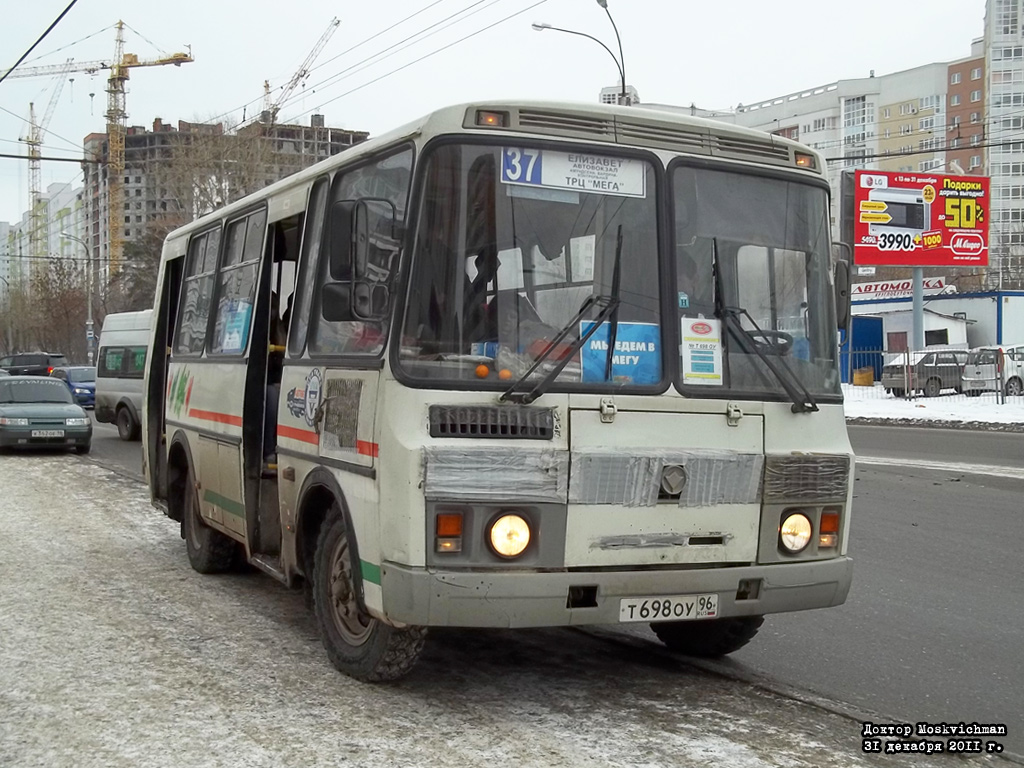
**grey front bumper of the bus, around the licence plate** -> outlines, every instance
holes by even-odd
[[[622,598],[717,594],[720,617],[825,608],[846,601],[853,560],[685,570],[444,571],[385,562],[384,612],[423,627],[561,627],[617,624]],[[742,584],[741,584],[742,583]],[[757,597],[746,597],[751,584]],[[596,603],[569,607],[570,588]],[[740,594],[740,590],[746,591]],[[574,590],[579,594],[579,590]]]

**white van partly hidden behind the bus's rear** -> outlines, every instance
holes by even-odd
[[[96,355],[96,421],[116,424],[122,440],[137,440],[142,418],[142,375],[153,310],[108,314]]]

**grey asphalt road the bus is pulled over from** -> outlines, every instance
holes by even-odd
[[[1006,723],[1007,750],[1024,755],[1024,435],[850,435],[860,462],[847,603],[770,616],[749,646],[703,666],[877,721]],[[90,458],[140,477],[139,443],[108,425]],[[646,628],[608,632],[656,644]]]

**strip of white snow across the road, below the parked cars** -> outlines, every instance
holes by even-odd
[[[870,387],[843,385],[846,418],[851,421],[952,422],[1024,428],[1024,397],[1007,397],[997,402],[994,393],[980,397],[944,394],[938,397],[904,399],[886,394],[881,384]]]

